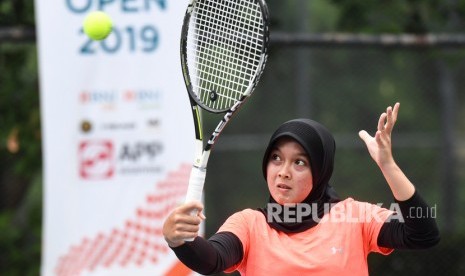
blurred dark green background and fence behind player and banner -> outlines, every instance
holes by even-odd
[[[209,162],[206,235],[266,204],[264,148],[282,122],[308,117],[335,135],[331,184],[343,198],[392,195],[358,131],[401,103],[394,156],[437,211],[441,242],[369,257],[371,275],[465,273],[465,2],[268,0],[263,78]],[[176,32],[174,32],[176,33]],[[59,35],[59,34],[57,34]],[[34,3],[0,2],[0,275],[39,275],[42,154]],[[185,93],[180,91],[179,93]],[[218,117],[205,114],[206,130]]]

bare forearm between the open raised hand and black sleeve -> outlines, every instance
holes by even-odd
[[[413,196],[415,186],[393,159],[385,164],[380,164],[379,167],[396,200],[405,201]]]

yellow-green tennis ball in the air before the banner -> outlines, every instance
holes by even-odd
[[[93,40],[105,39],[112,30],[110,16],[102,11],[93,11],[84,19],[84,32]]]

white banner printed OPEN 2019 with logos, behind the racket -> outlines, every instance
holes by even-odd
[[[42,275],[187,275],[163,240],[193,127],[179,37],[187,1],[36,0],[44,154]],[[104,41],[82,32],[102,10]]]

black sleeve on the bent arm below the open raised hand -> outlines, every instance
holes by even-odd
[[[394,249],[424,249],[436,245],[439,230],[431,208],[415,191],[405,201],[396,201],[404,222],[397,219],[400,214],[389,217],[380,229],[378,245]],[[396,217],[397,216],[397,217]]]

